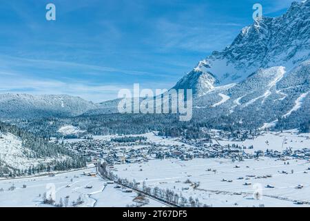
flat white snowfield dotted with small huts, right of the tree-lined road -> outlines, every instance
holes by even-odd
[[[152,188],[172,189],[187,198],[198,198],[209,206],[300,206],[294,201],[310,202],[310,162],[287,162],[289,165],[271,158],[245,162],[228,159],[153,160],[143,164],[116,165],[116,174],[141,183],[145,181]],[[272,177],[260,177],[267,175]],[[185,184],[187,179],[200,182],[200,186],[194,189]],[[267,188],[267,185],[274,188]],[[303,188],[296,189],[298,185]],[[261,196],[259,200],[254,197],[257,191]]]

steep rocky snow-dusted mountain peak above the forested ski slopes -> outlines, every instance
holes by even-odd
[[[293,2],[280,17],[263,17],[243,28],[222,52],[198,63],[174,88],[192,88],[195,97],[215,86],[240,82],[259,68],[287,70],[310,59],[310,1]]]

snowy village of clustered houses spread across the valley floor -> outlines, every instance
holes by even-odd
[[[62,142],[66,148],[87,157],[91,162],[105,160],[109,164],[142,163],[163,159],[188,161],[196,158],[227,158],[233,162],[257,159],[258,157],[271,157],[284,161],[289,158],[310,159],[309,137],[307,136],[298,137],[302,139],[300,144],[304,143],[304,148],[291,147],[289,142],[293,143],[293,140],[282,138],[284,139],[283,143],[287,144],[287,146],[281,144],[282,149],[273,148],[268,140],[265,141],[266,148],[258,149],[254,148],[254,145],[240,144],[243,140],[242,136],[234,137],[229,142],[225,142],[224,137],[227,135],[216,134],[213,139],[186,140],[183,137],[169,139],[153,134],[151,137],[123,136],[123,139],[120,140],[113,137],[105,137],[105,139],[94,137],[88,140],[58,140],[55,142]],[[254,137],[247,139],[254,140]]]

